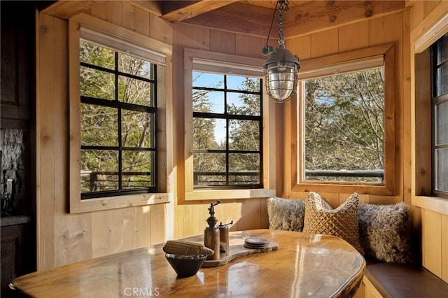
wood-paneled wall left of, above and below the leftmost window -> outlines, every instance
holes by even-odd
[[[107,1],[90,14],[172,43],[172,28],[126,2]],[[38,270],[165,241],[170,206],[68,211],[68,22],[40,13],[37,25]]]

